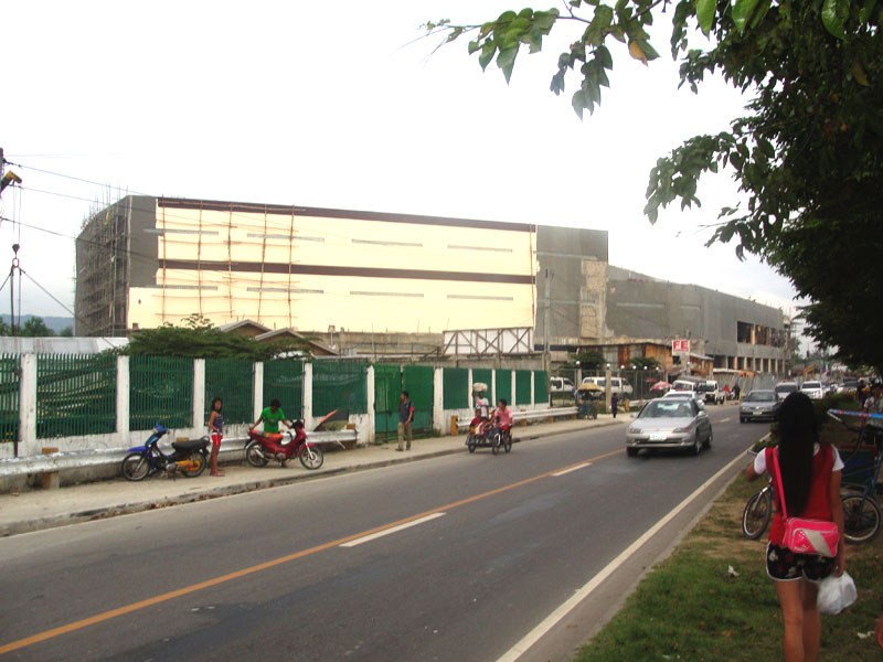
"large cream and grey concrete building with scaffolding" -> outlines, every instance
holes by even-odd
[[[780,310],[619,269],[605,231],[542,224],[126,196],[83,226],[76,313],[81,335],[199,313],[360,353],[489,329],[562,356],[690,338],[719,367],[785,367]]]

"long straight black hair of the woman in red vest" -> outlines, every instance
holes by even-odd
[[[788,516],[799,516],[809,500],[812,451],[818,440],[812,401],[805,393],[789,394],[779,407],[779,470]]]

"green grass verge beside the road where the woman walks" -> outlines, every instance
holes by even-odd
[[[747,465],[747,458],[746,458]],[[674,553],[655,566],[624,608],[575,660],[779,660],[783,623],[766,575],[766,540],[742,535],[745,502],[763,487],[737,478]],[[732,566],[738,576],[731,577]],[[883,608],[883,535],[847,548],[859,600],[822,618],[821,660],[881,660],[873,631]]]

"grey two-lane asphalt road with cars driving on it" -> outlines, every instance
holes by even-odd
[[[710,412],[699,457],[627,458],[624,421],[1,538],[0,658],[499,660],[767,429]],[[745,463],[521,660],[566,659]]]

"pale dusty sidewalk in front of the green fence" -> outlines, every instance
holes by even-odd
[[[515,442],[530,441],[551,435],[620,425],[620,420],[625,423],[628,418],[614,420],[609,415],[600,415],[597,420],[542,423],[515,427],[512,437]],[[325,463],[317,471],[307,471],[297,460],[289,462],[285,469],[277,462],[270,462],[264,469],[255,469],[243,461],[238,465],[224,465],[226,476],[223,478],[210,477],[206,470],[194,479],[151,476],[142,482],[132,483],[120,477],[58,490],[0,494],[0,536],[264,490],[349,471],[467,452],[465,435],[415,439],[412,450],[404,452],[396,452],[395,447],[393,441],[383,446],[326,452]],[[513,452],[517,450],[518,447]]]

